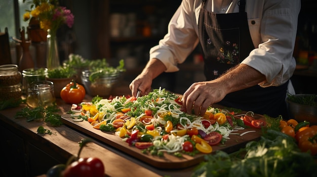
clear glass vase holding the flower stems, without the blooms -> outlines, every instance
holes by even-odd
[[[46,68],[50,70],[60,67],[60,62],[57,48],[56,31],[49,29],[47,32]]]

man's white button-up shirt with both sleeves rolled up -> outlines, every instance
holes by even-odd
[[[239,0],[209,0],[206,9],[214,13],[239,12]],[[213,6],[212,6],[213,5]],[[166,72],[178,71],[178,64],[199,43],[198,20],[201,0],[183,0],[173,15],[168,34],[150,49],[150,58],[158,58]],[[246,64],[265,75],[261,87],[287,82],[296,67],[293,57],[300,0],[246,0],[249,30],[255,49],[245,58]],[[254,23],[255,22],[255,23]],[[230,22],[228,22],[230,23]]]

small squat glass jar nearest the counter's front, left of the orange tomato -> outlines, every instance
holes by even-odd
[[[27,90],[26,104],[29,107],[53,106],[56,102],[54,85],[51,81],[35,81]]]

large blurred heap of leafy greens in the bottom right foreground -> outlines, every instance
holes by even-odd
[[[258,142],[232,154],[216,151],[191,176],[316,176],[316,161],[301,152],[293,138],[280,131],[267,130]]]

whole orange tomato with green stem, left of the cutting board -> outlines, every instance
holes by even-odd
[[[86,91],[82,85],[72,81],[61,90],[60,95],[66,103],[78,104],[85,98]]]

